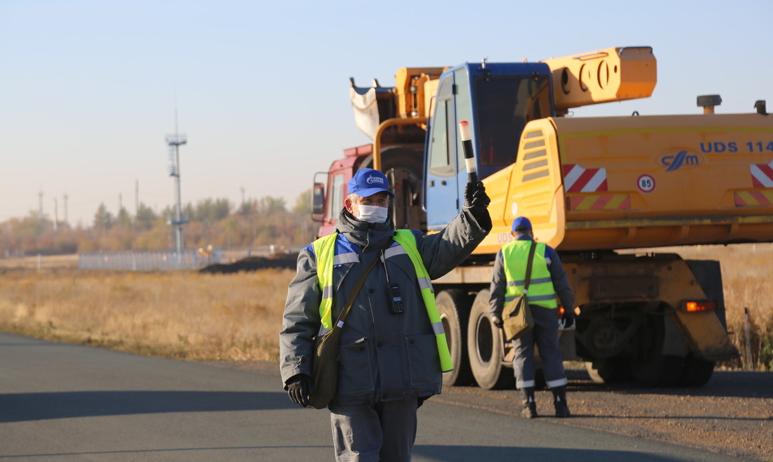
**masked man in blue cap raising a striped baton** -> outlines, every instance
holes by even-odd
[[[340,331],[338,388],[328,406],[333,445],[337,460],[410,460],[417,407],[441,392],[442,372],[453,369],[430,281],[489,233],[490,200],[482,182],[468,183],[459,215],[424,235],[395,230],[383,173],[360,170],[348,192],[335,233],[298,256],[279,335],[281,378],[292,401],[307,406],[314,339],[332,328],[378,259]]]

